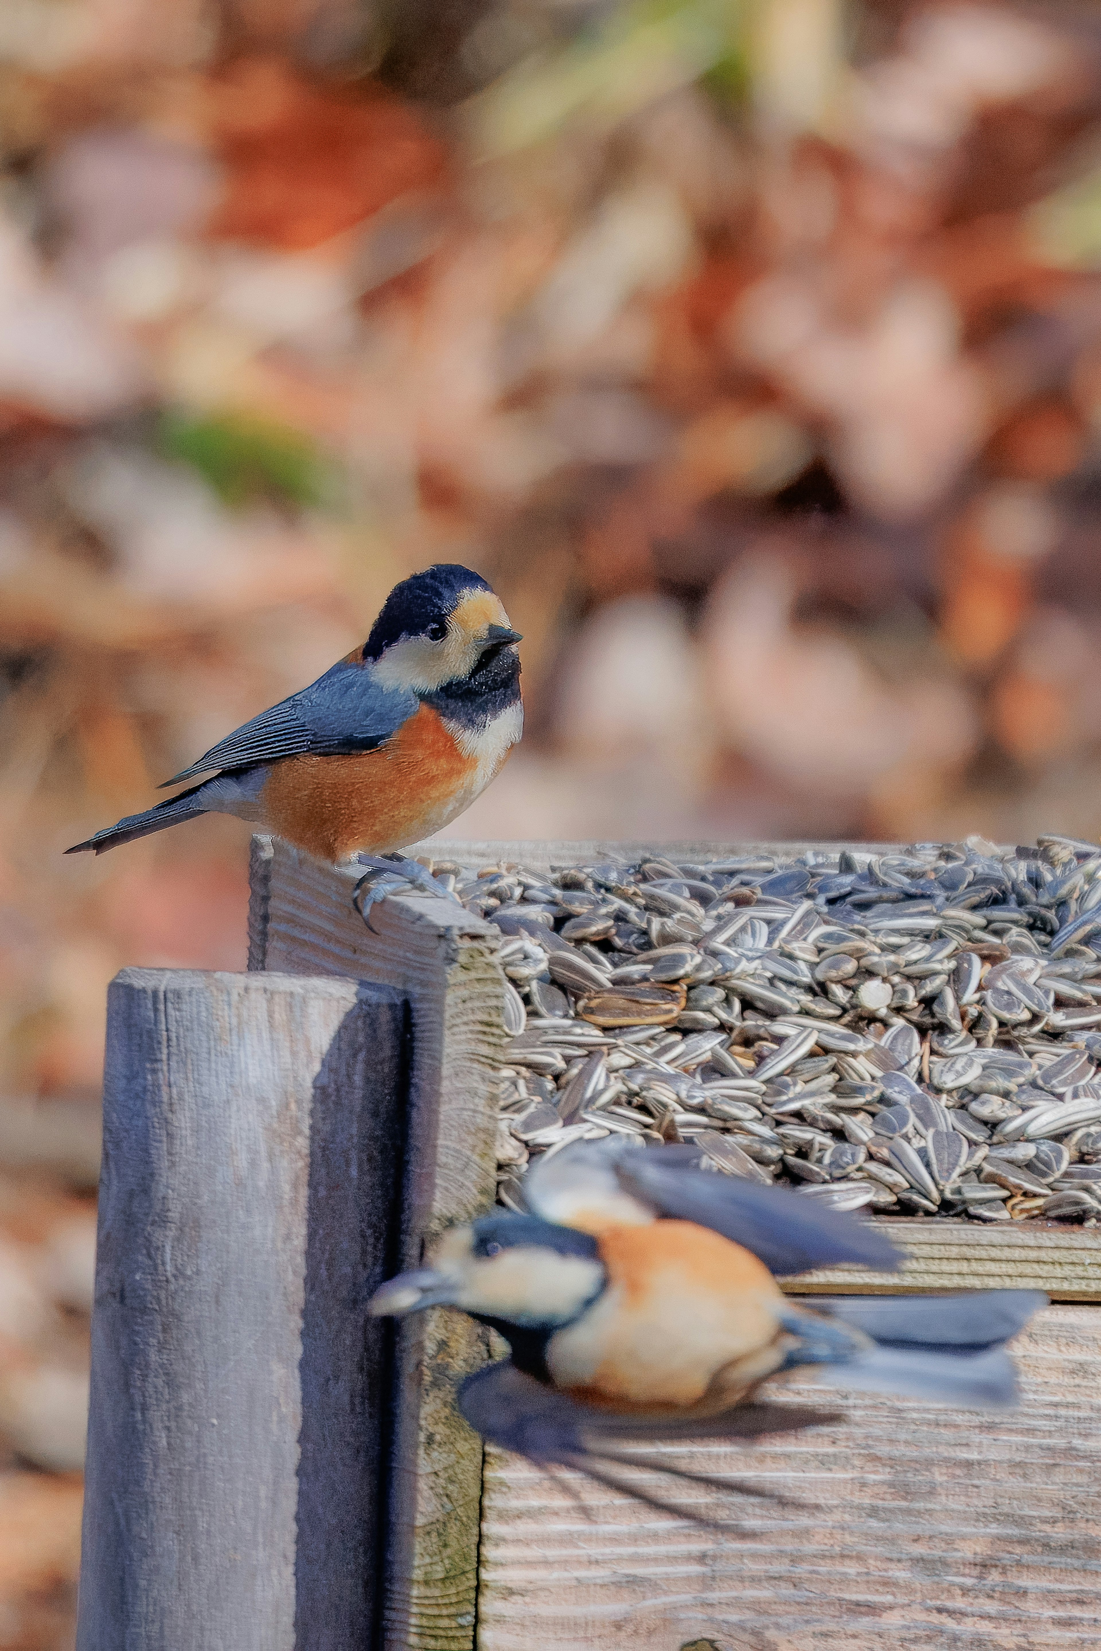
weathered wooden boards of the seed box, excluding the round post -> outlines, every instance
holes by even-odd
[[[423,847],[465,863],[545,867],[644,845]],[[703,859],[726,845],[662,845],[670,850]],[[503,1045],[495,934],[421,895],[376,908],[371,933],[352,908],[353,880],[258,839],[249,966],[332,971],[408,992],[416,1025],[408,1265],[424,1235],[492,1197],[494,1067]],[[1014,1284],[1101,1299],[1101,1235],[1093,1232],[890,1225],[910,1255],[901,1280],[839,1270],[791,1288]],[[568,1478],[563,1491],[489,1453],[479,1570],[480,1451],[451,1392],[484,1346],[461,1319],[436,1314],[401,1344],[386,1644],[465,1651],[475,1606],[479,1651],[678,1651],[697,1641],[700,1651],[870,1651],[873,1643],[878,1651],[885,1631],[905,1646],[971,1651],[1094,1643],[1101,1313],[1051,1308],[1020,1347],[1027,1400],[1009,1417],[863,1395],[839,1402],[848,1420],[837,1428],[749,1455],[683,1453],[690,1466],[744,1473],[753,1464],[810,1504],[753,1504],[748,1539],[655,1517],[588,1481]],[[789,1393],[810,1397],[806,1387]]]

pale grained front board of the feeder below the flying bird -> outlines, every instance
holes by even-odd
[[[1018,1410],[842,1395],[842,1425],[669,1451],[804,1506],[687,1488],[720,1534],[487,1451],[479,1651],[1068,1651],[1101,1638],[1101,1311],[1017,1339]],[[796,1402],[822,1388],[791,1385]],[[832,1407],[832,1395],[825,1397]],[[669,1478],[649,1479],[669,1494]]]

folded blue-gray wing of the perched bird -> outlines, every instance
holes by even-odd
[[[165,784],[175,786],[216,768],[253,768],[284,756],[375,751],[414,715],[418,705],[413,692],[383,687],[370,665],[342,660],[309,688],[300,688],[226,735],[198,763]]]

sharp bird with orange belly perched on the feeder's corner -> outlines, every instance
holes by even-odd
[[[393,588],[361,649],[220,740],[165,784],[200,779],[66,854],[104,854],[200,814],[236,814],[335,865],[363,863],[366,900],[403,878],[396,850],[447,826],[523,731],[523,641],[490,584],[436,563]],[[360,910],[365,911],[361,905]]]

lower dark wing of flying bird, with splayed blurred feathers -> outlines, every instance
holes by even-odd
[[[700,1516],[692,1506],[672,1501],[654,1489],[644,1474],[667,1474],[683,1486],[698,1484],[710,1491],[756,1496],[784,1502],[763,1486],[728,1474],[697,1473],[677,1466],[665,1453],[636,1455],[632,1446],[693,1445],[710,1441],[753,1443],[769,1433],[797,1433],[842,1420],[835,1412],[806,1405],[746,1403],[720,1417],[627,1417],[581,1405],[566,1393],[543,1387],[523,1375],[512,1360],[490,1364],[469,1375],[459,1388],[459,1410],[470,1426],[490,1445],[527,1456],[540,1468],[574,1468],[624,1491],[642,1502],[682,1519],[703,1524],[716,1521]],[[731,1529],[723,1522],[723,1529]]]

